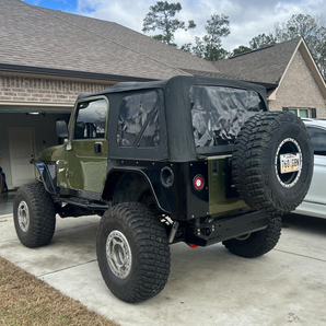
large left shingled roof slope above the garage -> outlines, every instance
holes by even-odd
[[[168,79],[210,62],[116,23],[0,0],[0,62]]]

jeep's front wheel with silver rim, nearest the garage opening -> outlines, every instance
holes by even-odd
[[[30,248],[47,245],[56,229],[56,209],[42,183],[19,188],[13,201],[14,228],[21,243]]]

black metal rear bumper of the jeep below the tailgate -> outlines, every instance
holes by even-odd
[[[208,246],[233,238],[243,234],[264,230],[268,226],[271,217],[263,212],[253,212],[224,220],[216,220],[205,226],[185,228],[185,242],[198,246]]]

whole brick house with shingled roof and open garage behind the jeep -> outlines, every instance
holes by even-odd
[[[326,86],[303,39],[214,63],[119,24],[0,0],[0,166],[10,189],[32,182],[28,162],[58,144],[55,125],[75,97],[120,81],[206,74],[256,82],[271,109],[326,117]]]

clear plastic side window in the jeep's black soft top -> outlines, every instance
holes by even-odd
[[[120,147],[156,147],[160,141],[156,91],[124,97],[119,110],[117,143]]]

